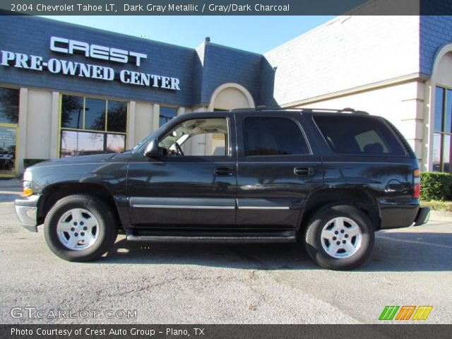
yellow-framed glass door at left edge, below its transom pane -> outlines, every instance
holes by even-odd
[[[17,176],[17,125],[0,124],[0,177]]]

